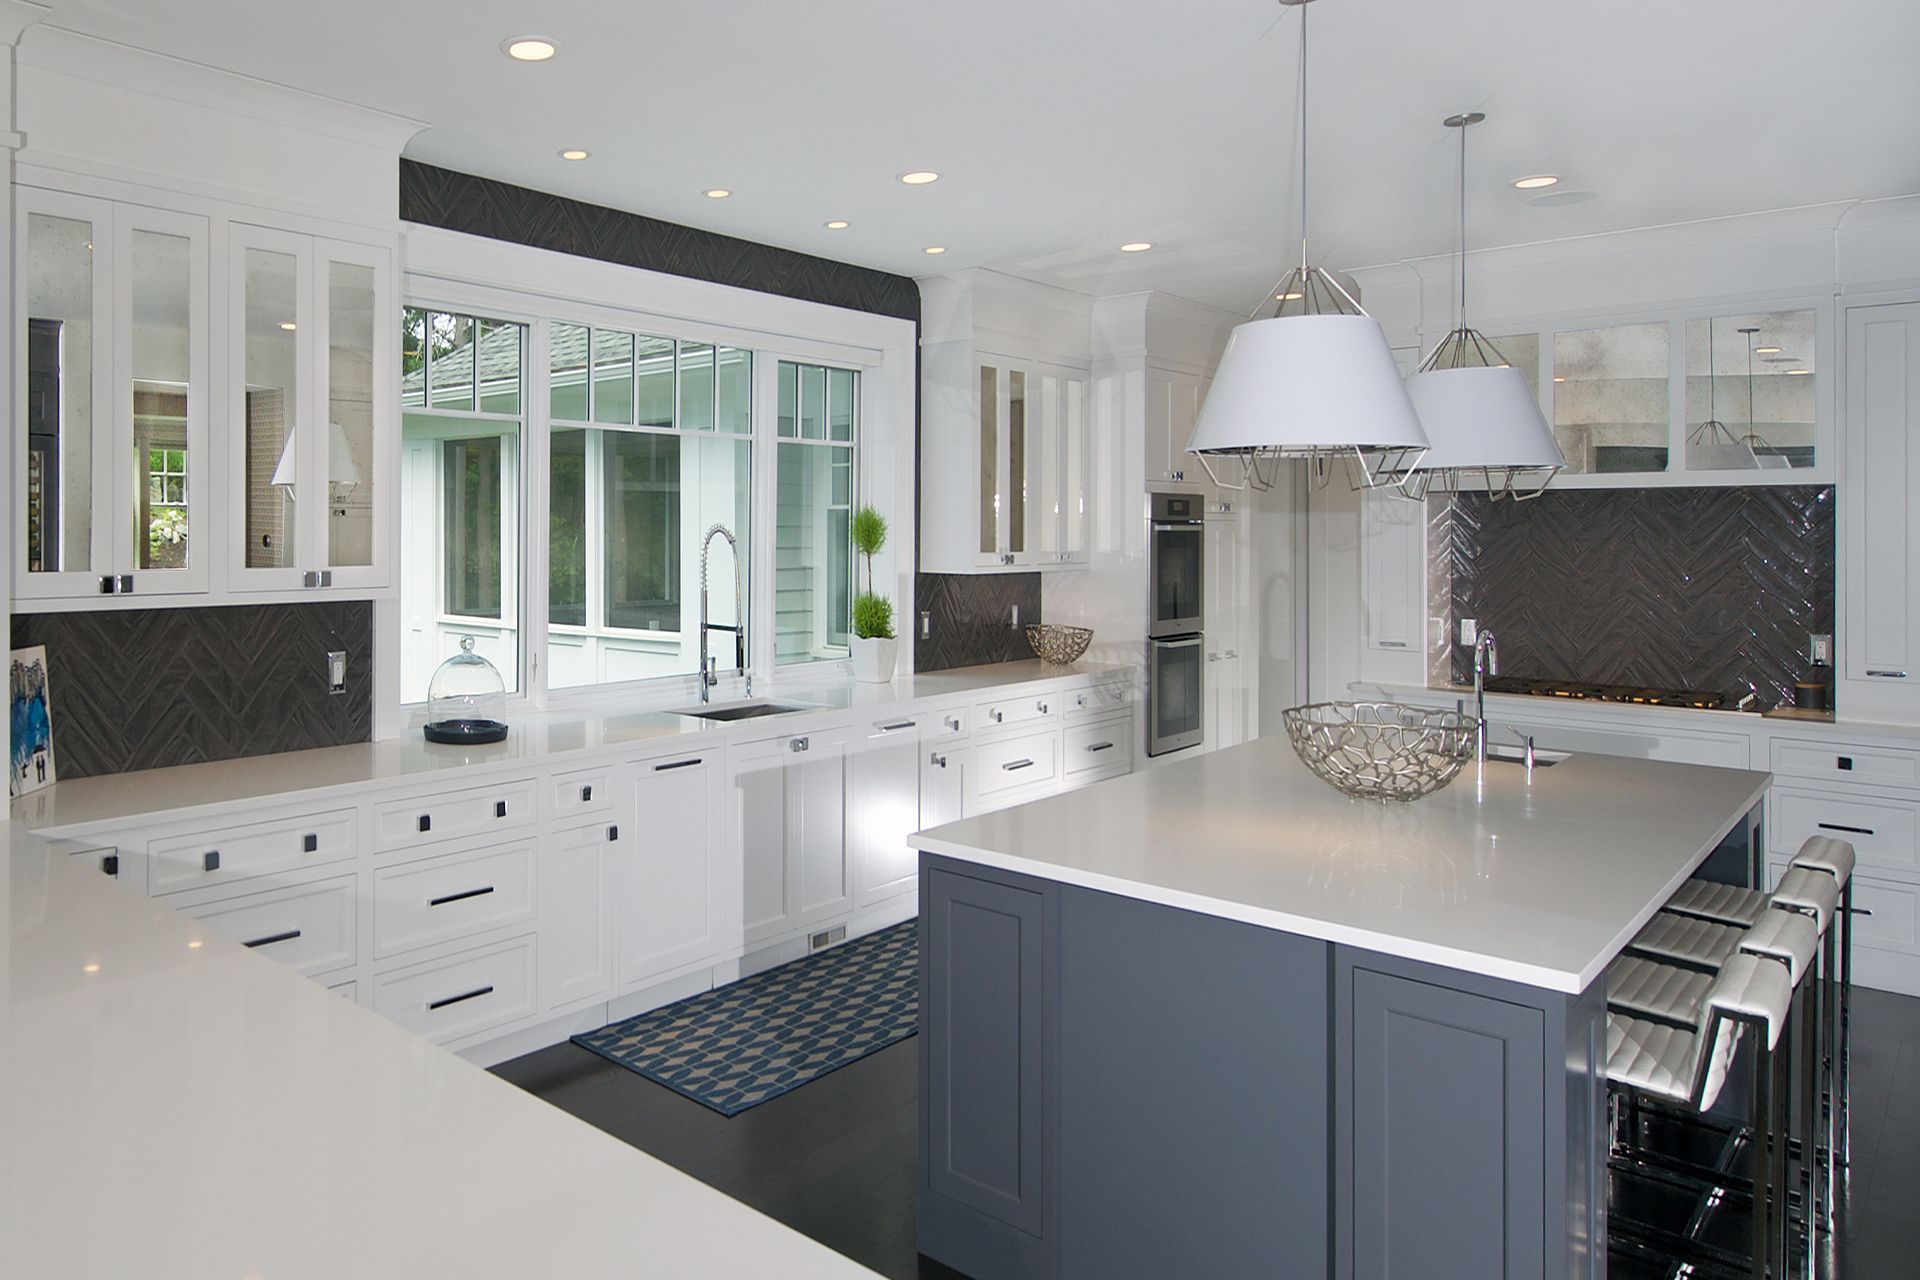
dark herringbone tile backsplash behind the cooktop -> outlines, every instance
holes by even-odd
[[[1707,689],[1791,702],[1807,637],[1834,631],[1834,489],[1549,489],[1428,503],[1450,639],[1475,618],[1501,676]],[[1450,645],[1442,674],[1473,679]]]

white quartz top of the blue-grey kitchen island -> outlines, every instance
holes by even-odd
[[[1571,756],[1348,800],[1284,737],[933,827],[916,848],[1580,992],[1759,804],[1768,773]]]

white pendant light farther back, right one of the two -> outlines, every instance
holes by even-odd
[[[1540,497],[1567,464],[1526,374],[1467,324],[1467,129],[1463,111],[1442,121],[1459,130],[1459,324],[1407,376],[1407,395],[1432,449],[1407,474],[1407,497],[1484,487],[1496,499]]]

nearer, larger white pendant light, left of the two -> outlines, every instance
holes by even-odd
[[[1309,0],[1279,0],[1306,6]],[[1308,261],[1308,25],[1300,10],[1300,267],[1267,319],[1233,330],[1188,451],[1225,489],[1271,489],[1277,462],[1306,459],[1325,482],[1344,461],[1356,486],[1398,484],[1427,451],[1379,320]],[[1261,305],[1265,311],[1267,305]]]

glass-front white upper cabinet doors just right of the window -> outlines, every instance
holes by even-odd
[[[1087,558],[1087,378],[1012,363],[979,367],[979,564]]]

